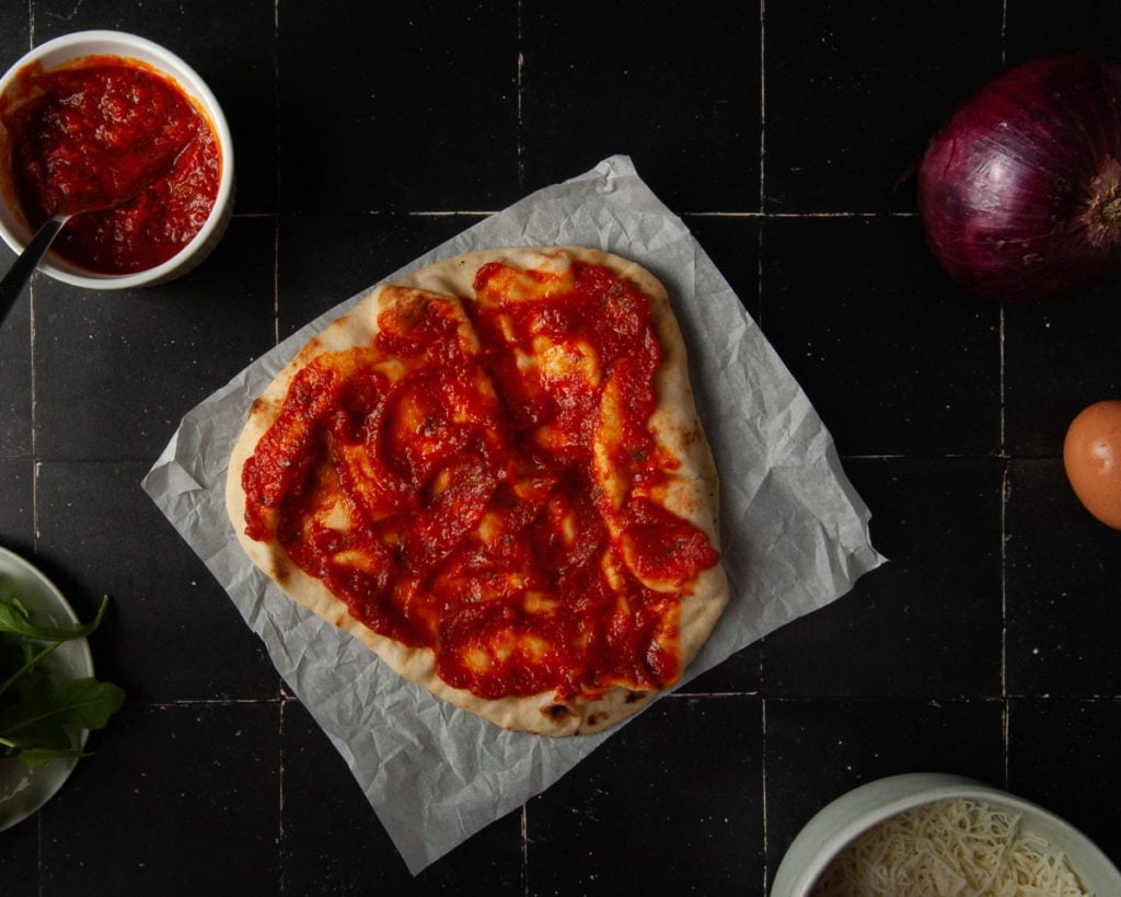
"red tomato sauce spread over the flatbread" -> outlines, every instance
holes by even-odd
[[[649,428],[649,297],[582,263],[474,286],[463,311],[383,311],[370,345],[296,376],[242,471],[245,531],[482,697],[663,688],[717,554],[650,498],[677,462]]]

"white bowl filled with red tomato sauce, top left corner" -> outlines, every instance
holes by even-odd
[[[0,78],[0,237],[21,252],[71,215],[39,270],[90,289],[152,286],[197,266],[233,209],[217,100],[170,50],[78,31]]]

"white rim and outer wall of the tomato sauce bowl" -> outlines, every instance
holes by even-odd
[[[128,58],[130,55],[129,49],[131,48],[133,50],[141,50],[156,59],[166,61],[168,67],[178,70],[176,72],[167,71],[159,63],[148,62],[149,65],[172,77],[180,89],[187,91],[205,109],[210,123],[214,128],[214,137],[222,149],[222,175],[219,182],[217,195],[214,200],[214,207],[211,210],[211,214],[206,218],[203,226],[198,230],[198,233],[167,261],[154,268],[124,275],[101,275],[95,271],[76,274],[54,265],[49,256],[44,258],[38,265],[38,269],[44,274],[71,286],[80,286],[87,289],[128,289],[169,279],[177,269],[183,267],[200,249],[205,247],[214,234],[214,231],[223,225],[223,207],[232,202],[233,198],[233,139],[225,113],[217,98],[194,67],[167,47],[147,37],[141,37],[129,31],[90,29],[72,31],[46,40],[25,53],[0,76],[0,94],[3,93],[8,83],[24,66],[57,50],[80,48],[84,45],[94,44],[119,45],[120,49],[90,50],[89,53],[75,53],[74,56],[118,55]],[[180,73],[184,77],[179,77]],[[184,81],[188,83],[183,83]],[[20,239],[11,233],[2,220],[0,220],[0,237],[17,253],[24,250],[26,239],[29,239],[29,235],[26,239]]]

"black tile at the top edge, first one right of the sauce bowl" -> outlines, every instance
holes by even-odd
[[[282,211],[478,211],[518,198],[518,25],[515,0],[284,4]]]

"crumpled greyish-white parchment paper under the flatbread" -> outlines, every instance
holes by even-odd
[[[475,249],[550,244],[597,247],[647,267],[666,285],[689,350],[721,475],[732,600],[680,684],[844,594],[883,562],[869,539],[869,511],[806,396],[629,158],[605,159],[534,193],[383,279]],[[546,789],[618,728],[574,739],[500,731],[401,679],[360,642],[298,608],[241,551],[223,490],[249,406],[311,335],[359,298],[293,334],[191,410],[143,488],[263,639],[416,875]]]

